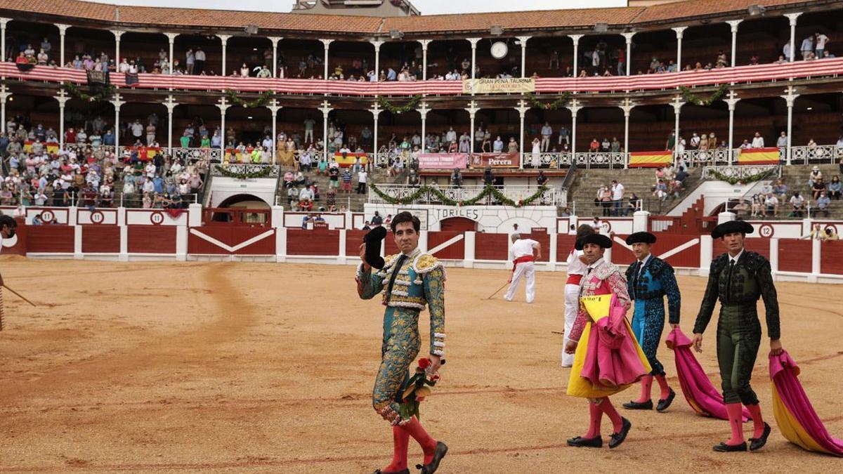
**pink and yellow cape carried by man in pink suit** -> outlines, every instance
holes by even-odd
[[[586,308],[588,310],[588,304]],[[588,352],[581,375],[595,386],[633,384],[651,369],[644,366],[647,359],[632,336],[626,321],[626,308],[615,294],[612,294],[608,308],[604,307],[604,310],[608,315],[592,315],[597,322],[593,323],[588,335]]]

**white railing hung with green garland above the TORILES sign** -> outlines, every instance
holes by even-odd
[[[419,186],[411,185],[377,185],[378,190],[390,199],[406,199],[416,194]],[[463,186],[463,187],[438,187],[438,190],[450,201],[464,202],[468,201],[483,192],[486,186]],[[507,199],[512,199],[515,202],[521,201],[535,194],[538,189],[535,186],[501,186],[497,188],[503,196]],[[550,187],[547,191],[534,201],[537,206],[564,206],[566,203],[567,193],[564,190]],[[380,197],[371,187],[368,191],[368,202],[389,202]],[[442,199],[437,196],[435,192],[424,191],[416,198],[414,204],[437,204],[442,203]],[[478,204],[500,204],[496,197],[491,195],[484,197]]]

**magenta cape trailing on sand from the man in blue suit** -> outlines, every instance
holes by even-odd
[[[691,352],[691,340],[677,327],[668,333],[665,343],[674,350],[679,386],[690,407],[704,417],[728,420],[722,393],[714,388],[706,371]],[[749,418],[749,410],[744,407],[744,421]]]

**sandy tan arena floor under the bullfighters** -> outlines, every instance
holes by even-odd
[[[43,304],[3,295],[0,471],[355,473],[391,458],[389,426],[370,402],[383,306],[357,299],[352,267],[5,256],[0,270]],[[448,275],[448,364],[421,406],[451,449],[443,474],[840,470],[843,461],[777,433],[765,353],[754,387],[774,431],[760,453],[712,452],[727,423],[695,416],[681,395],[666,413],[623,413],[633,428],[617,450],[568,448],[587,411],[565,396],[561,336],[551,332],[562,328],[564,273],[540,273],[532,305],[523,292],[484,300],[506,272]],[[704,285],[679,278],[686,333]],[[843,434],[843,292],[777,287],[782,341],[830,432]],[[709,329],[701,362],[719,386]],[[660,354],[673,376],[673,353]],[[411,466],[420,460],[411,441]]]

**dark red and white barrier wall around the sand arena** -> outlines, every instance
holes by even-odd
[[[5,207],[3,213],[13,213]],[[266,211],[269,213],[269,211]],[[32,224],[35,217],[45,224]],[[77,207],[30,207],[19,218],[19,231],[13,239],[3,240],[3,254],[34,258],[73,258],[102,260],[209,260],[271,261],[356,265],[366,230],[342,228],[364,219],[362,213],[344,213],[325,218],[324,224],[309,224],[303,229],[302,213],[284,213],[273,207],[271,220],[265,223],[231,225],[202,223],[202,208],[192,204],[189,210],[161,209],[87,209]],[[626,232],[612,234],[615,245],[607,258],[625,267],[635,260],[626,236],[631,233],[631,218],[608,218],[612,229]],[[568,229],[576,218],[560,218],[556,229],[532,229],[525,238],[542,246],[536,261],[540,271],[564,272],[566,259],[574,245],[574,236],[552,230]],[[293,224],[298,225],[293,226]],[[636,222],[636,225],[639,225]],[[812,222],[767,221],[759,223],[774,229],[801,225],[810,229]],[[780,225],[781,224],[781,225]],[[816,221],[823,228],[843,229],[843,223]],[[759,226],[756,225],[756,228]],[[629,229],[627,229],[629,228]],[[795,230],[791,230],[795,233]],[[709,235],[656,233],[658,242],[653,255],[668,261],[677,272],[706,276],[711,258],[725,251],[722,242]],[[756,238],[746,240],[748,250],[759,252],[771,261],[776,279],[818,283],[843,283],[843,241],[765,237],[756,229]],[[785,234],[785,232],[782,232]],[[509,234],[470,231],[421,231],[419,245],[442,259],[448,267],[512,268],[508,255]],[[388,236],[384,255],[398,251]]]

